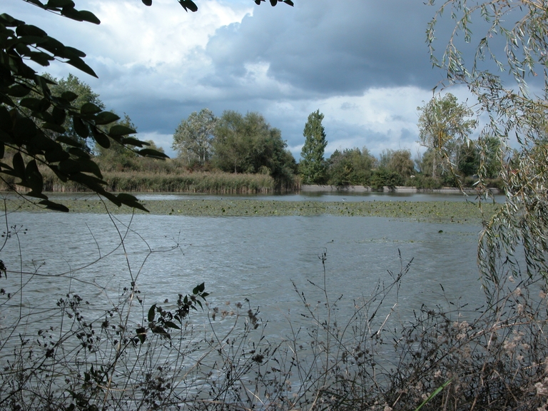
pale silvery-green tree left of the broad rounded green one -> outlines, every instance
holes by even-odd
[[[208,108],[200,113],[194,111],[186,120],[181,121],[173,134],[173,149],[187,164],[198,161],[205,164],[212,151],[213,130],[218,119]]]

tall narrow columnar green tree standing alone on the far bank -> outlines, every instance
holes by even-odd
[[[316,110],[310,113],[305,124],[303,135],[305,144],[300,152],[300,173],[307,184],[321,184],[325,182],[327,164],[323,158],[325,146],[325,128],[322,126],[323,113]]]

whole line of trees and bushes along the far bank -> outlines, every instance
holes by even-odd
[[[81,109],[92,104],[101,110],[106,106],[90,86],[69,74],[67,78],[54,78],[44,73],[51,81],[52,96],[73,93],[77,98],[73,106]],[[275,186],[290,188],[300,179],[303,184],[320,184],[345,188],[347,186],[369,186],[373,190],[385,187],[413,186],[417,188],[440,188],[442,186],[471,185],[480,166],[484,176],[496,179],[502,166],[497,156],[500,141],[484,137],[482,146],[470,140],[470,133],[477,126],[473,112],[450,93],[432,98],[422,107],[418,121],[419,142],[425,153],[415,157],[409,149],[387,149],[375,157],[367,147],[337,149],[325,158],[328,144],[324,115],[319,110],[310,113],[303,129],[304,144],[297,163],[279,128],[270,126],[264,116],[257,112],[244,114],[226,110],[220,117],[208,108],[191,113],[177,126],[173,133],[172,148],[178,158],[168,164],[158,165],[151,158],[139,156],[135,150],[111,137],[103,144],[83,138],[78,133],[78,122],[65,118],[63,127],[66,140],[74,151],[86,153],[103,171],[153,171],[173,173],[180,171],[222,171],[225,173],[266,174],[275,181]],[[114,117],[113,117],[114,118]],[[124,113],[116,116],[114,124],[135,131],[136,126]],[[129,135],[123,141],[131,141]],[[72,141],[72,142],[71,142]],[[76,142],[76,143],[75,143]],[[143,142],[158,153],[163,148],[153,141]],[[64,143],[66,145],[66,143]],[[75,147],[78,146],[78,147]],[[487,148],[487,151],[485,150]],[[496,181],[494,181],[496,183]]]

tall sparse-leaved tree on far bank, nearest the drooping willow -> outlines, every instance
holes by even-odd
[[[419,143],[432,148],[432,177],[436,177],[438,157],[450,161],[451,148],[463,141],[476,127],[476,120],[466,120],[473,112],[464,103],[457,103],[451,93],[432,98],[423,107],[417,107],[419,118]]]

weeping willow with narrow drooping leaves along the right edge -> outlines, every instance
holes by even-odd
[[[434,3],[430,0],[430,4]],[[435,30],[447,9],[450,13],[444,16],[450,16],[455,31],[440,53],[435,51]],[[478,26],[474,35],[472,24]],[[514,278],[522,273],[529,278],[548,278],[548,169],[544,149],[548,117],[547,32],[544,2],[524,0],[473,4],[445,1],[427,29],[433,64],[447,72],[447,83],[467,86],[477,96],[480,114],[487,118],[479,139],[477,188],[481,193],[489,195],[484,182],[489,176],[489,156],[502,165],[499,175],[507,201],[486,221],[479,248],[478,260],[487,292],[497,290],[502,280],[497,261],[506,261],[504,273],[510,270]],[[464,34],[465,43],[457,41],[459,34]],[[468,50],[470,47],[473,49]],[[529,88],[528,82],[533,86]],[[515,136],[518,146],[513,154],[508,147],[510,136]],[[489,148],[489,137],[499,142],[497,147]],[[511,161],[505,161],[510,156]],[[517,255],[521,255],[524,264],[519,263]]]

